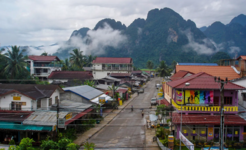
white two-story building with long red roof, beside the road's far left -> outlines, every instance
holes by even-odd
[[[92,65],[94,79],[102,79],[111,73],[131,73],[133,70],[131,58],[97,57]]]

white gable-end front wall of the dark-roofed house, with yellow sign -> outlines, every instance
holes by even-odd
[[[19,95],[21,96],[21,99],[20,100],[13,100],[13,95]],[[22,105],[22,110],[26,110],[26,111],[29,111],[31,110],[31,106],[32,106],[32,99],[25,96],[25,95],[22,95],[22,94],[19,94],[19,93],[11,93],[11,94],[8,94],[8,95],[5,95],[5,96],[2,96],[0,97],[0,107],[1,109],[7,109],[9,110],[10,109],[10,104],[12,102],[26,102],[26,106],[23,106]]]

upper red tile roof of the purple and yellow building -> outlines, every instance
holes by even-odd
[[[185,86],[185,83],[189,82],[189,86]],[[205,73],[200,72],[194,75],[191,75],[186,78],[179,80],[167,82],[172,88],[175,89],[220,89],[220,84],[214,81],[214,77]],[[242,86],[236,85],[234,83],[228,82],[224,86],[225,90],[242,90],[245,89]]]

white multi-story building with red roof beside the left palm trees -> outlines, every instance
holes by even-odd
[[[28,56],[27,70],[31,75],[40,79],[47,79],[52,71],[61,71],[60,59],[57,56]]]

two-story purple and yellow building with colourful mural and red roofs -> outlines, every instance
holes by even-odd
[[[213,76],[200,72],[166,82],[164,87],[165,99],[176,109],[172,123],[176,127],[177,138],[182,113],[181,132],[189,140],[219,141],[220,84],[214,81]],[[243,89],[231,82],[224,85],[225,141],[242,141],[246,132],[246,121],[237,115],[238,90]]]

